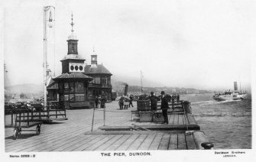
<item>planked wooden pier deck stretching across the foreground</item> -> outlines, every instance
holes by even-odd
[[[106,104],[105,125],[127,127],[131,124],[151,126],[197,125],[192,115],[168,115],[169,125],[152,122],[132,122],[131,110],[120,110],[118,102]],[[68,120],[50,122],[41,126],[41,134],[23,131],[17,140],[13,140],[13,128],[5,128],[5,152],[40,152],[40,151],[136,151],[136,150],[193,150],[202,149],[203,142],[196,134],[184,134],[180,131],[102,131],[103,112],[95,112],[93,131],[93,109],[67,110]],[[10,121],[10,117],[6,116]],[[31,128],[30,128],[31,129]],[[201,140],[201,141],[200,141]]]

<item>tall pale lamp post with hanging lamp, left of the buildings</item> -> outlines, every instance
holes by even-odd
[[[53,6],[44,6],[44,109],[47,109],[47,76],[49,76],[48,63],[47,63],[47,25],[48,28],[53,28],[52,9],[55,13]],[[50,11],[49,18],[47,17]],[[54,14],[55,16],[55,14]]]

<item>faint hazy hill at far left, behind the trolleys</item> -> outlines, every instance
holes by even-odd
[[[5,92],[11,93],[44,93],[44,85],[38,84],[21,84],[21,85],[14,85],[14,86],[5,86]]]

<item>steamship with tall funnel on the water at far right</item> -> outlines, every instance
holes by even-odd
[[[240,88],[241,89],[241,88]],[[226,90],[222,93],[216,93],[213,96],[213,99],[216,101],[232,101],[238,99],[245,99],[246,94],[242,92],[238,92],[238,84],[234,82],[234,91]]]

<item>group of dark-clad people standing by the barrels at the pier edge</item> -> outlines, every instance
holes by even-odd
[[[174,101],[180,101],[180,95],[165,95],[164,91],[161,92],[160,96],[155,96],[154,92],[151,92],[151,96],[149,97],[151,101],[151,111],[157,111],[157,102],[161,101],[160,109],[162,110],[164,116],[164,124],[168,124],[168,115],[167,109],[169,108],[168,101],[172,102],[172,108],[174,109]]]

